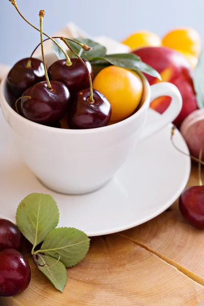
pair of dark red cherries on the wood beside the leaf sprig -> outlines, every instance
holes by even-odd
[[[0,219],[0,296],[12,296],[28,288],[31,269],[20,253],[22,237],[11,221]]]

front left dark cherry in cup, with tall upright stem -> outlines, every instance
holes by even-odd
[[[40,82],[27,89],[23,96],[31,99],[21,99],[21,112],[23,116],[37,123],[59,121],[67,112],[70,93],[61,82],[50,81],[52,91],[46,82]]]

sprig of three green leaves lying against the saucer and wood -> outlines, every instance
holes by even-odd
[[[29,194],[16,211],[17,226],[33,245],[31,253],[35,265],[56,289],[63,292],[67,282],[66,268],[84,259],[90,239],[76,228],[56,228],[58,222],[57,203],[48,194]],[[41,248],[35,250],[41,242]]]

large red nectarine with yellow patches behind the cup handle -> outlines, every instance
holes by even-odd
[[[196,96],[192,81],[192,68],[188,60],[176,50],[167,47],[144,47],[133,51],[143,62],[155,68],[162,77],[163,82],[170,82],[179,88],[182,98],[182,110],[174,120],[180,127],[183,120],[197,109]],[[150,85],[160,82],[150,75],[146,75]],[[152,101],[150,107],[163,113],[169,106],[170,97],[159,97]]]

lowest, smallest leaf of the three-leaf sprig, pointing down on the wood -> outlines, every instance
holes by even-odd
[[[56,262],[56,259],[50,256],[38,254],[38,263],[44,267],[39,267],[38,269],[49,279],[49,281],[61,292],[63,292],[64,287],[67,282],[67,271],[63,263],[60,261]]]

